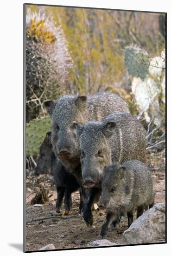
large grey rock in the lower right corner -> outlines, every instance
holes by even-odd
[[[165,203],[157,203],[136,219],[118,244],[165,242]]]

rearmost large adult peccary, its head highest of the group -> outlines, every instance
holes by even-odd
[[[64,95],[57,101],[46,101],[44,104],[52,115],[53,151],[81,185],[81,151],[74,133],[74,122],[85,124],[90,120],[100,120],[116,111],[129,112],[127,104],[119,95],[111,93],[98,93],[89,97]],[[90,193],[86,202],[92,202],[93,197],[94,193]],[[83,217],[88,225],[92,225],[89,212],[91,213],[91,207],[84,208]]]

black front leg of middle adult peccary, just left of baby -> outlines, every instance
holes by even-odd
[[[88,227],[93,225],[93,215],[91,212],[93,203],[97,202],[101,195],[101,189],[93,188],[89,189],[87,198],[84,200],[82,208],[82,217],[84,218]]]

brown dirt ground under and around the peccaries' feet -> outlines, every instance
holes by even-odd
[[[154,168],[152,170],[152,179],[156,192],[155,203],[165,202],[165,151],[157,155],[152,153],[148,155],[148,164]],[[45,188],[50,189],[49,202],[40,207],[31,204],[32,194],[40,186],[44,185],[44,176],[38,178],[34,175],[28,175],[26,180],[26,221],[46,216],[54,216],[55,204],[57,199],[56,188],[52,182],[46,181]],[[80,216],[78,212],[79,193],[72,194],[72,209],[68,216]],[[62,216],[62,211],[58,216]],[[85,248],[89,243],[101,239],[101,226],[105,219],[105,211],[96,209],[93,211],[94,223],[88,228],[83,219],[71,218],[49,219],[43,221],[30,222],[26,224],[26,251],[38,250],[47,244],[54,244],[56,249]],[[117,230],[108,231],[106,239],[117,243],[123,232],[127,229],[127,218],[120,223]]]

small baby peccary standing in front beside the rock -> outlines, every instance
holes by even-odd
[[[127,214],[129,227],[133,223],[134,209],[137,209],[138,218],[146,206],[151,208],[154,204],[151,172],[140,161],[109,165],[104,169],[101,187],[99,208],[107,210],[106,220],[101,228],[102,238],[105,238],[108,227],[120,215]]]

